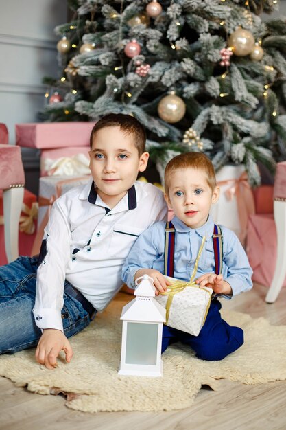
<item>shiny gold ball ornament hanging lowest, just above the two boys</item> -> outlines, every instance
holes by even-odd
[[[161,120],[173,124],[182,120],[186,113],[186,105],[178,95],[171,93],[163,97],[158,104],[158,115]]]

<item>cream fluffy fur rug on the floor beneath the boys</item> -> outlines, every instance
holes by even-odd
[[[202,361],[178,343],[163,354],[163,377],[119,376],[121,309],[130,300],[120,293],[103,313],[71,338],[71,363],[58,360],[55,370],[36,363],[34,348],[0,356],[0,375],[40,394],[67,395],[79,411],[170,411],[189,407],[202,385],[219,389],[217,380],[246,384],[286,380],[286,326],[233,311],[222,315],[244,330],[244,345],[222,361]],[[62,356],[63,357],[63,356]]]

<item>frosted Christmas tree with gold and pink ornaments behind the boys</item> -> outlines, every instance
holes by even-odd
[[[286,159],[286,21],[278,0],[70,0],[56,27],[60,76],[48,121],[137,117],[162,170],[203,151],[215,168]]]

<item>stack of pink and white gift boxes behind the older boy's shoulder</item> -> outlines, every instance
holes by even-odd
[[[70,188],[88,182],[89,138],[93,122],[16,124],[16,144],[40,150],[37,236],[38,253],[53,201]]]

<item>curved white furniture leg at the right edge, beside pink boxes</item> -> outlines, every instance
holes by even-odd
[[[265,298],[267,303],[275,302],[286,275],[286,201],[274,201],[274,220],[277,235],[277,258],[272,283]]]

